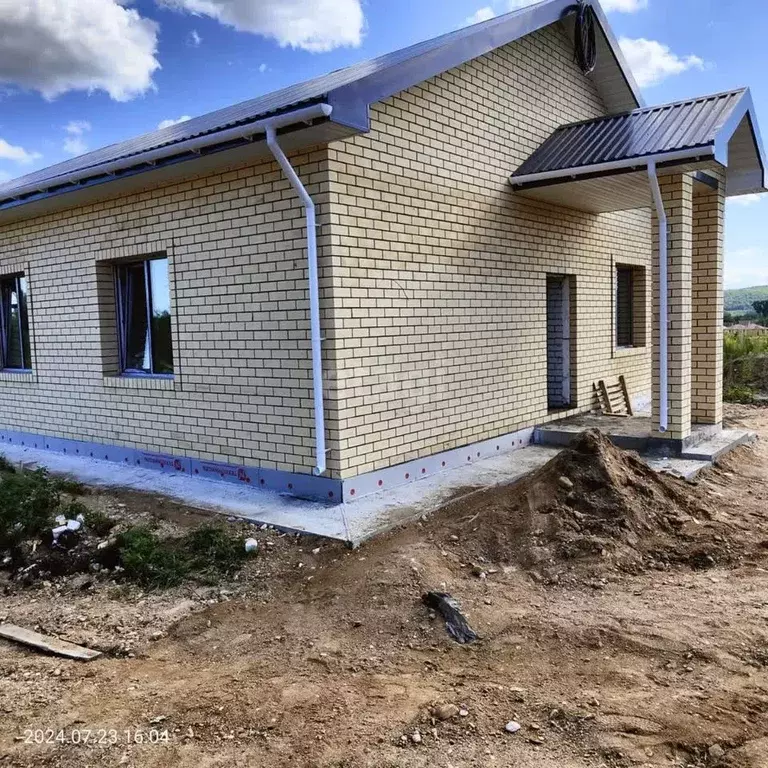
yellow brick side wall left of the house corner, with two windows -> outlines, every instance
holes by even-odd
[[[292,161],[322,203],[327,150]],[[32,375],[0,375],[0,426],[311,471],[304,231],[272,163],[0,227],[0,273],[29,277],[34,360]],[[175,380],[105,375],[114,364],[114,309],[99,306],[111,290],[105,262],[163,249]]]

